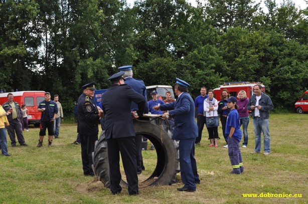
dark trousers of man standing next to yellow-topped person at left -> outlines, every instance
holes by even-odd
[[[6,129],[8,130],[8,133],[11,139],[11,145],[16,145],[15,132],[17,135],[18,142],[20,144],[25,144],[22,123],[18,121],[17,119],[11,120],[9,122],[10,122],[10,125],[7,126]]]

